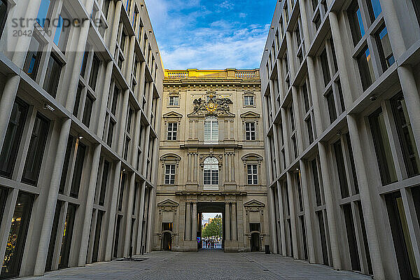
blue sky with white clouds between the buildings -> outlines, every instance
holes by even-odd
[[[145,0],[165,69],[256,69],[273,0]]]

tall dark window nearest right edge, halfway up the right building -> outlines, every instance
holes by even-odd
[[[419,153],[402,92],[391,99],[391,107],[407,175],[409,177],[419,175]]]

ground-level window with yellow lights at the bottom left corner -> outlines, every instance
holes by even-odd
[[[7,239],[8,246],[1,267],[2,279],[18,277],[20,274],[33,203],[34,197],[32,195],[19,192]]]

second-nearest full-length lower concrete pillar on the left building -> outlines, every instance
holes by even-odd
[[[99,160],[101,157],[101,144],[94,147],[92,158],[92,169],[90,172],[89,189],[87,190],[85,217],[83,219],[83,230],[80,240],[80,251],[78,258],[78,266],[84,267],[86,265],[87,246],[89,246],[90,223],[92,221],[92,210],[94,202],[94,193],[96,191],[97,177],[99,169]]]

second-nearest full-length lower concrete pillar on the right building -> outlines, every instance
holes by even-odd
[[[328,168],[328,157],[325,144],[319,142],[319,161],[321,164],[321,176],[325,194],[325,206],[328,218],[328,230],[330,232],[330,247],[332,256],[332,265],[335,269],[342,269],[341,258],[339,256],[339,241],[337,235],[337,219],[335,218],[336,209],[334,203],[334,194],[332,193],[332,184]]]

